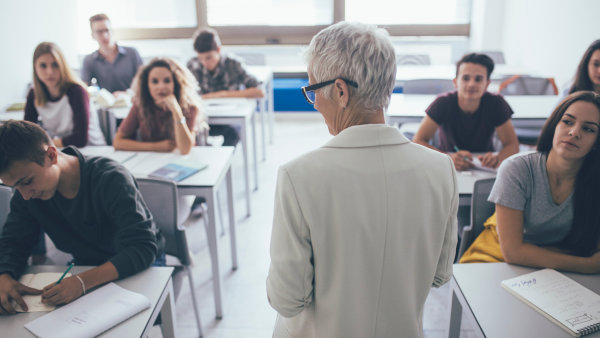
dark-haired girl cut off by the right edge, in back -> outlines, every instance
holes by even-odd
[[[592,42],[577,66],[575,81],[569,88],[569,94],[579,90],[591,90],[600,94],[600,39]]]

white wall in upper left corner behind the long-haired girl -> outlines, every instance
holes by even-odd
[[[3,1],[0,9],[2,64],[0,109],[23,98],[32,77],[33,50],[42,41],[59,45],[71,65],[77,64],[75,2],[77,0]]]

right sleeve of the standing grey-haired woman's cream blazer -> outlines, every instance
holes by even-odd
[[[448,156],[450,170],[452,171],[453,193],[450,204],[450,212],[446,220],[446,232],[444,235],[444,243],[438,260],[435,277],[433,278],[432,286],[439,288],[446,284],[452,277],[452,264],[456,255],[456,243],[458,242],[457,216],[458,215],[458,184],[456,181],[456,170],[454,164]]]

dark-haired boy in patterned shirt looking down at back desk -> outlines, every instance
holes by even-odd
[[[197,57],[190,59],[187,67],[200,84],[202,98],[248,97],[261,98],[259,82],[244,69],[242,63],[231,55],[221,53],[221,40],[214,29],[202,28],[194,35]],[[211,124],[211,136],[223,135],[224,146],[235,146],[240,137],[228,125]]]

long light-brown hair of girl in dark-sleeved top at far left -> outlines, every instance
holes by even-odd
[[[72,85],[80,85],[83,88],[86,88],[86,85],[81,82],[79,77],[73,73],[67,62],[65,61],[65,56],[61,52],[60,48],[55,43],[52,42],[42,42],[37,47],[35,47],[35,51],[33,52],[33,92],[35,94],[35,105],[38,107],[43,107],[48,102],[48,88],[46,85],[40,80],[39,76],[35,72],[35,63],[37,59],[45,54],[50,54],[56,61],[58,65],[58,69],[60,72],[60,80],[58,83],[60,96],[63,96],[67,89],[69,89]]]

